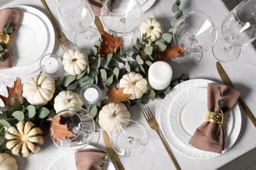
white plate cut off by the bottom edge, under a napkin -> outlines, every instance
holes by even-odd
[[[85,149],[97,149],[94,146],[86,146]],[[41,166],[41,170],[77,170],[75,167],[75,152],[63,151],[61,149],[56,150],[51,154],[47,160]],[[104,170],[115,170],[112,161],[107,161],[104,166]]]

